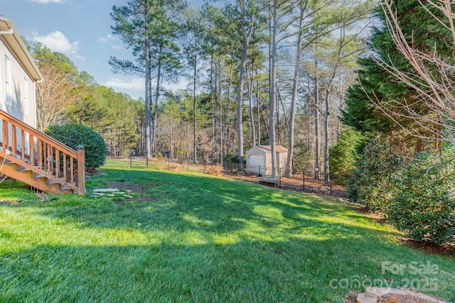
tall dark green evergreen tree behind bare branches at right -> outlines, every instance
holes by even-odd
[[[392,5],[400,20],[401,31],[412,40],[415,49],[430,53],[437,50],[439,55],[450,57],[451,48],[444,44],[449,33],[427,11],[431,11],[431,7],[425,9],[418,0],[395,1]],[[432,13],[437,14],[437,11]],[[432,109],[422,101],[422,94],[385,69],[385,65],[390,65],[408,75],[413,74],[409,62],[397,51],[385,25],[381,6],[378,6],[376,16],[381,25],[374,29],[369,45],[370,56],[358,60],[360,83],[348,91],[343,121],[371,136],[376,132],[392,134],[405,131],[419,138],[434,138],[439,126],[422,123],[409,114],[412,111],[416,116],[432,115]],[[417,85],[423,87],[424,83]],[[410,140],[409,136],[407,140]]]

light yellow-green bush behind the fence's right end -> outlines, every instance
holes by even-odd
[[[328,167],[330,177],[336,184],[346,184],[355,169],[355,162],[360,158],[358,147],[362,135],[347,128],[341,132],[340,138],[328,149]]]

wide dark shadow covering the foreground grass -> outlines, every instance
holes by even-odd
[[[51,246],[2,255],[1,302],[341,302],[349,290],[424,279],[381,272],[352,240]],[[364,244],[368,244],[364,242]],[[380,260],[400,262],[385,248]],[[359,255],[360,253],[360,255]],[[433,276],[432,276],[433,277]],[[437,280],[445,299],[449,282]]]

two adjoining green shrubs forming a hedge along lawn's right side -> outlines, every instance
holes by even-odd
[[[348,197],[382,212],[415,241],[450,243],[455,235],[455,151],[419,153],[407,165],[373,139],[347,184]]]

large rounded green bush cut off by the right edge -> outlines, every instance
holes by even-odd
[[[420,153],[397,175],[387,219],[415,241],[451,242],[455,234],[453,152]]]

